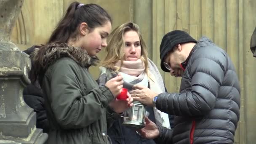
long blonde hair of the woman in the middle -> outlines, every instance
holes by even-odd
[[[139,35],[140,45],[141,45],[141,60],[144,62],[145,72],[148,73],[148,54],[147,54],[147,46],[139,32],[139,26],[132,22],[128,22],[125,24],[120,25],[119,27],[115,28],[109,35],[108,45],[106,47],[107,56],[105,57],[104,61],[101,62],[103,67],[107,67],[110,69],[115,70],[117,72],[119,68],[115,68],[115,63],[117,61],[121,61],[121,66],[124,61],[124,50],[125,41],[124,41],[124,34],[128,31],[135,31]]]

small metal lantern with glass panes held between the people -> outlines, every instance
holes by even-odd
[[[124,112],[123,125],[134,129],[144,128],[145,115],[145,105],[141,104],[139,101],[133,101],[133,107]]]

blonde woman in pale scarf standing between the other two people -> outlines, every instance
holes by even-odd
[[[139,84],[149,87],[155,93],[165,92],[163,79],[155,64],[148,59],[146,49],[137,24],[128,22],[114,29],[109,35],[103,67],[100,67],[99,85],[104,85],[113,76],[120,74],[124,81],[123,87],[128,88],[128,91],[131,91],[131,85]],[[155,107],[147,107],[147,112],[151,121],[170,128],[167,114]],[[143,139],[135,130],[122,123],[123,119],[119,118],[108,129],[112,144],[155,144],[154,140]]]

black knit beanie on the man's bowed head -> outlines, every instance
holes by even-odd
[[[160,45],[161,69],[163,71],[170,72],[163,65],[166,54],[169,51],[171,51],[175,45],[181,44],[181,43],[189,43],[189,42],[197,43],[197,41],[193,37],[191,37],[187,32],[184,32],[181,30],[174,30],[174,31],[168,32],[167,34],[165,34],[165,36],[163,36],[163,39]]]

